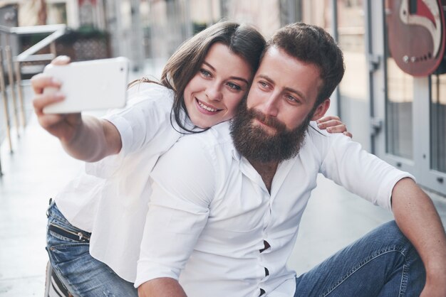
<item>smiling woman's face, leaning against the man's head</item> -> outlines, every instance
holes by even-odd
[[[195,126],[209,128],[232,119],[252,80],[249,64],[223,43],[214,43],[184,92]]]

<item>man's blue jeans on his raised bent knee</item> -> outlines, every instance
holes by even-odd
[[[294,296],[420,296],[425,268],[394,221],[296,278]]]

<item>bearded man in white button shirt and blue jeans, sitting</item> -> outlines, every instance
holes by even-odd
[[[446,296],[445,231],[427,195],[348,137],[308,124],[328,109],[343,71],[323,29],[286,26],[269,41],[230,135],[220,124],[160,159],[140,296]],[[286,261],[319,172],[392,210],[396,224],[296,278]]]

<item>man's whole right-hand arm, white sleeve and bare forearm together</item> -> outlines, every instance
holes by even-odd
[[[398,227],[425,265],[427,281],[422,296],[445,297],[445,230],[430,198],[407,173],[363,151],[346,137],[335,135],[323,140],[331,141],[331,146],[321,173],[375,205],[391,209]],[[317,147],[323,147],[322,144]]]

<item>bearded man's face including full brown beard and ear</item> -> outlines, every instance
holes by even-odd
[[[321,117],[329,106],[326,100],[313,110],[321,83],[316,66],[270,48],[247,100],[240,104],[231,123],[237,151],[249,161],[263,163],[296,156],[308,122]]]

